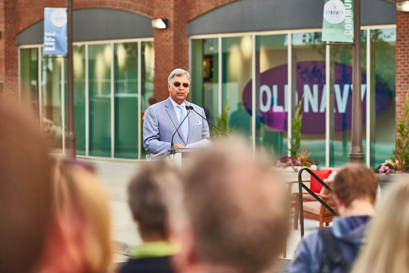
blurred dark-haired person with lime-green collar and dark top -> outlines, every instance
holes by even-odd
[[[142,245],[131,251],[121,273],[172,273],[177,247],[169,242],[168,202],[177,183],[178,168],[166,161],[147,162],[128,185],[128,203],[138,226]]]

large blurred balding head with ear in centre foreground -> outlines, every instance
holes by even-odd
[[[183,209],[171,210],[179,273],[260,273],[272,269],[289,233],[285,186],[267,157],[222,141],[185,167]],[[175,198],[177,199],[177,198]]]

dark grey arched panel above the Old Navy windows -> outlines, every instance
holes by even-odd
[[[324,0],[237,0],[191,20],[188,35],[322,27]],[[395,5],[361,0],[361,24],[395,24]]]

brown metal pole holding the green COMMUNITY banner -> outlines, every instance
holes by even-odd
[[[354,0],[354,49],[352,54],[352,128],[349,161],[362,163],[365,154],[362,147],[362,101],[361,101],[361,0]]]

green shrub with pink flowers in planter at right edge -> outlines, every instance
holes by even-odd
[[[381,188],[396,181],[397,176],[409,173],[409,89],[406,93],[405,115],[397,122],[396,131],[395,149],[390,159],[375,169]]]

